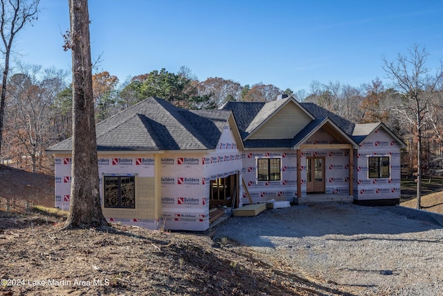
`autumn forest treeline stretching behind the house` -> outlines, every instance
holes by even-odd
[[[71,73],[39,66],[21,67],[8,78],[3,163],[28,171],[52,173],[53,159],[45,150],[71,137],[72,88],[66,82]],[[423,92],[426,90],[426,86]],[[442,143],[442,86],[432,89],[431,101],[419,114],[426,124],[422,164],[428,174],[440,173]],[[107,71],[93,74],[93,98],[96,121],[102,121],[150,96],[190,110],[215,109],[228,101],[266,102],[278,94],[289,94],[297,101],[311,102],[355,123],[383,121],[408,143],[404,151],[404,168],[413,173],[414,110],[408,110],[409,98],[395,88],[383,85],[379,78],[352,86],[342,82],[311,82],[309,91],[293,92],[262,82],[240,85],[233,80],[213,77],[199,80],[188,67],[177,73],[166,69],[150,71],[120,83]],[[408,156],[409,155],[409,156]],[[407,171],[407,170],[406,170]]]

